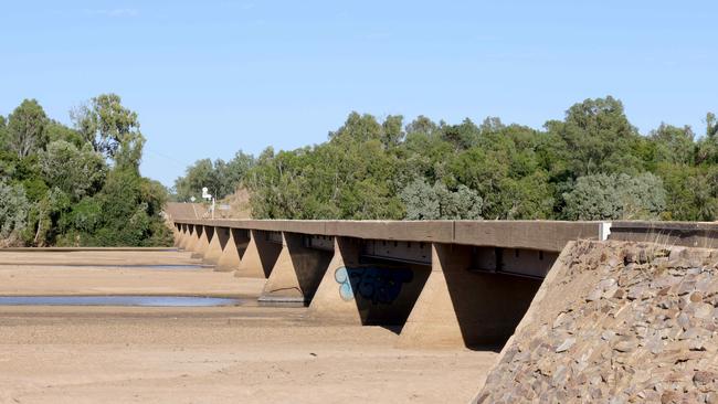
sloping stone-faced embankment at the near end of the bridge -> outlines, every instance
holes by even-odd
[[[718,403],[718,251],[570,243],[477,403]]]

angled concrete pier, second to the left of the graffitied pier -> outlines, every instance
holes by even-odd
[[[250,231],[250,243],[242,256],[236,277],[268,278],[274,263],[282,252],[282,244],[270,241],[267,232]]]

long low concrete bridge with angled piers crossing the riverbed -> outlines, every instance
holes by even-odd
[[[217,270],[265,278],[260,301],[400,329],[403,347],[504,343],[569,241],[718,238],[712,224],[646,222],[173,219],[173,230]]]

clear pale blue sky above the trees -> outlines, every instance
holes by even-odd
[[[3,1],[0,114],[114,92],[142,173],[325,141],[351,110],[539,128],[588,97],[642,132],[718,111],[714,1]]]

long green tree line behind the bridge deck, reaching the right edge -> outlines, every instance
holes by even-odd
[[[199,160],[173,198],[244,187],[257,219],[712,221],[717,134],[707,114],[703,136],[667,124],[641,135],[611,96],[540,130],[351,113],[320,145]]]

